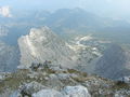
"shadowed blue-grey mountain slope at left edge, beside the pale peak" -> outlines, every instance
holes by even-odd
[[[17,46],[10,46],[0,41],[0,72],[12,72],[20,65]]]

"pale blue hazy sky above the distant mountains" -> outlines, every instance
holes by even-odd
[[[12,9],[49,11],[82,8],[103,16],[130,17],[130,0],[0,0],[0,6],[2,5],[9,5]]]

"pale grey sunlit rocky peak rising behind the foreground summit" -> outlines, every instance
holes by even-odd
[[[73,58],[75,53],[48,27],[30,29],[29,34],[18,39],[18,45],[21,66],[29,67],[31,63],[44,63],[46,60],[63,67],[75,65]]]

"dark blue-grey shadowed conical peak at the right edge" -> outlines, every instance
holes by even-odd
[[[130,52],[113,44],[96,63],[95,73],[109,79],[130,75]]]

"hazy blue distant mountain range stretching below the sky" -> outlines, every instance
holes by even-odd
[[[47,11],[21,11],[13,12],[13,17],[1,18],[0,25],[5,25],[10,28],[9,36],[4,37],[8,42],[13,37],[13,42],[16,44],[17,39],[27,34],[29,29],[32,27],[48,26],[61,37],[86,34],[88,32],[99,36],[107,36],[116,38],[114,33],[118,33],[121,39],[129,36],[130,24],[125,20],[115,20],[112,18],[100,17],[95,14],[86,12],[82,9],[61,9],[53,13]],[[14,34],[14,31],[17,33]],[[122,32],[125,32],[123,36]],[[110,33],[110,36],[109,36]]]

